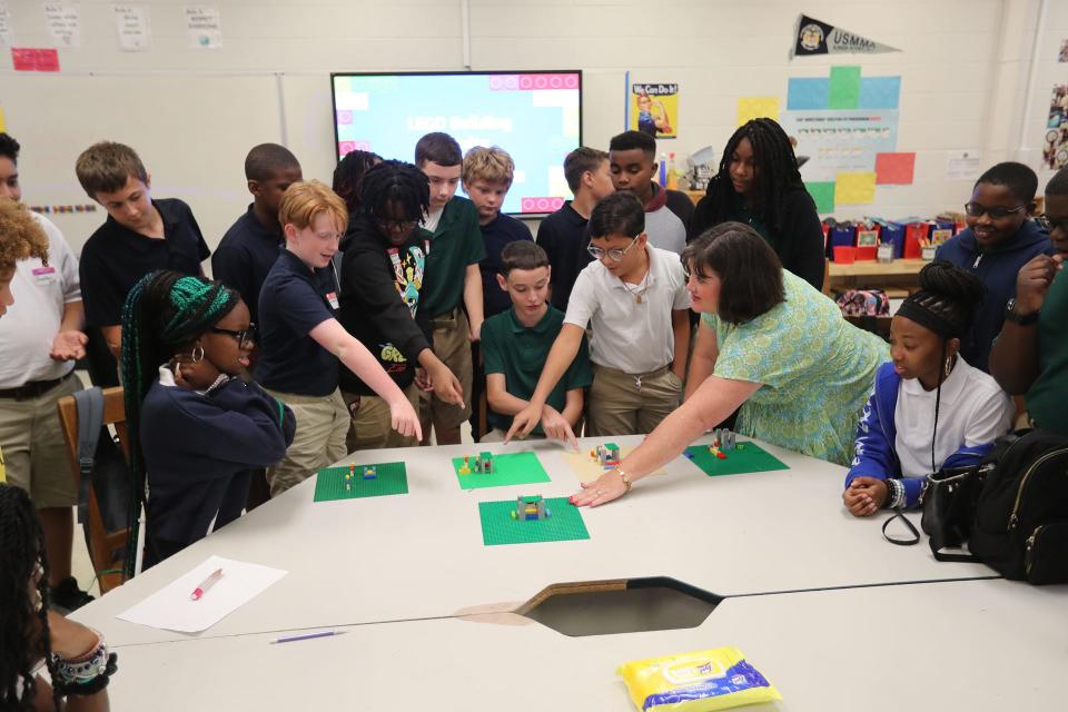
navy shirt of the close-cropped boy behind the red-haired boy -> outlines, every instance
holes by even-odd
[[[222,236],[211,255],[211,276],[237,289],[259,324],[259,290],[284,249],[281,226],[268,228],[253,212],[253,205]]]

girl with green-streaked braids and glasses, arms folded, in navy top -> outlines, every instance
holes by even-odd
[[[248,307],[218,281],[156,271],[126,299],[131,515],[144,502],[146,568],[240,516],[249,471],[274,465],[293,442],[293,413],[246,379],[254,339]],[[135,538],[128,576],[136,552]]]

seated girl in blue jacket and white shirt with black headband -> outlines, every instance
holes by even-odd
[[[983,285],[936,261],[890,325],[890,362],[857,428],[842,500],[856,516],[914,507],[928,474],[977,464],[1008,432],[1013,407],[997,382],[960,356]]]

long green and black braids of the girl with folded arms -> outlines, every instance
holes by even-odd
[[[154,271],[138,281],[122,305],[121,370],[126,426],[130,439],[130,544],[125,575],[137,565],[138,515],[145,503],[146,469],[140,445],[141,404],[156,382],[159,367],[175,349],[197,339],[240,301],[240,295],[218,281]]]

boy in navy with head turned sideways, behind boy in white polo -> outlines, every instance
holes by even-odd
[[[564,204],[537,226],[537,244],[548,255],[553,280],[550,300],[565,312],[571,289],[583,267],[593,261],[586,251],[590,214],[601,198],[612,195],[612,171],[609,155],[595,148],[576,148],[564,159],[564,178],[575,198]]]

